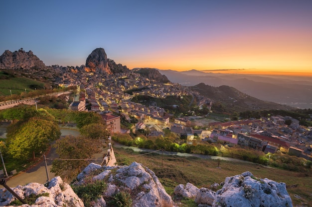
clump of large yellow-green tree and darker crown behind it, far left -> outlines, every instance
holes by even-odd
[[[21,110],[19,110],[21,109]],[[19,120],[7,128],[6,149],[12,158],[25,161],[47,150],[61,135],[53,116],[46,110],[17,107],[6,110],[3,118]]]

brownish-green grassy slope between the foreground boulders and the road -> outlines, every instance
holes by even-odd
[[[114,150],[118,165],[129,165],[132,162],[142,163],[153,170],[169,195],[179,184],[192,183],[198,188],[209,188],[214,183],[221,183],[226,177],[250,171],[255,177],[268,178],[276,182],[284,182],[293,205],[312,207],[312,178],[298,172],[291,172],[253,163],[220,162],[218,160],[181,158],[160,154],[141,155],[131,149],[116,148]]]

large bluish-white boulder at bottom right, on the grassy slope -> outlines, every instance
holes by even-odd
[[[223,184],[223,183],[222,183]],[[195,198],[206,207],[292,207],[285,183],[258,179],[250,172],[227,177],[222,189],[214,192],[201,188]]]

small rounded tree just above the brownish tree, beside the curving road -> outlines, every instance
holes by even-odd
[[[80,128],[80,134],[87,138],[104,139],[110,136],[110,132],[107,130],[104,124],[89,124]]]

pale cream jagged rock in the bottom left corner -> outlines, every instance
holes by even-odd
[[[38,198],[31,207],[84,207],[70,185],[64,183],[60,177],[53,178],[47,187],[38,183],[29,183],[25,186],[19,185],[12,190],[23,200],[30,195],[36,195]],[[5,188],[0,189],[0,206],[8,206],[15,200],[16,198]],[[23,205],[23,207],[30,206]]]

